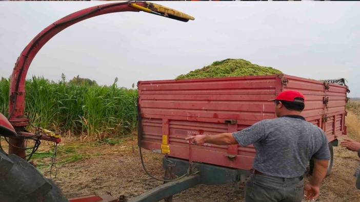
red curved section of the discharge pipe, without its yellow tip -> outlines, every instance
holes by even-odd
[[[140,6],[145,6],[142,2],[137,2]],[[34,59],[37,52],[49,41],[53,36],[67,27],[78,23],[84,19],[94,17],[97,15],[103,15],[114,12],[134,11],[138,12],[138,9],[128,6],[127,2],[104,4],[99,6],[89,7],[70,15],[67,15],[52,23],[39,34],[37,34],[25,47],[23,52],[17,58],[14,70],[11,75],[10,91],[9,91],[9,119],[13,126],[19,127],[19,130],[24,130],[24,126],[29,125],[28,120],[25,120],[25,79],[29,66]],[[23,140],[10,139],[10,143],[18,146],[25,147]],[[14,153],[18,156],[25,156],[24,149],[18,149],[10,145],[9,153]]]

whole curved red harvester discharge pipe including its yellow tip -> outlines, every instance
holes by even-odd
[[[79,21],[97,15],[125,11],[145,11],[148,13],[161,15],[181,21],[188,21],[189,19],[194,19],[193,17],[185,13],[153,3],[122,2],[93,6],[74,12],[55,21],[55,23],[49,25],[30,41],[30,43],[25,47],[23,52],[17,58],[17,61],[15,63],[15,67],[11,75],[11,83],[9,90],[8,119],[17,132],[24,131],[25,126],[29,125],[29,120],[24,116],[25,79],[32,60],[34,59],[37,52],[44,46],[44,44],[57,33],[61,32],[62,30],[66,29],[71,25],[78,23]],[[25,142],[23,139],[10,138],[9,154],[14,153],[24,158],[25,149],[23,148],[25,148]]]

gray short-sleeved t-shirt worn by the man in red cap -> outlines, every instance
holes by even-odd
[[[253,168],[271,176],[302,176],[312,156],[330,159],[325,132],[301,116],[259,121],[232,134],[241,146],[254,144]]]

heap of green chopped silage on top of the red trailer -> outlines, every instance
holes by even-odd
[[[190,78],[214,78],[214,77],[232,77],[232,76],[249,76],[249,75],[272,75],[283,74],[281,71],[270,68],[269,66],[260,66],[252,64],[244,59],[225,59],[215,61],[202,69],[197,69],[182,74],[176,79]]]

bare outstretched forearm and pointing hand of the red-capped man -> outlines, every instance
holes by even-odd
[[[191,143],[197,145],[202,145],[204,143],[210,143],[215,145],[237,144],[232,133],[220,133],[220,134],[215,134],[213,136],[204,136],[204,135],[190,136],[186,138],[186,140],[190,140]]]

